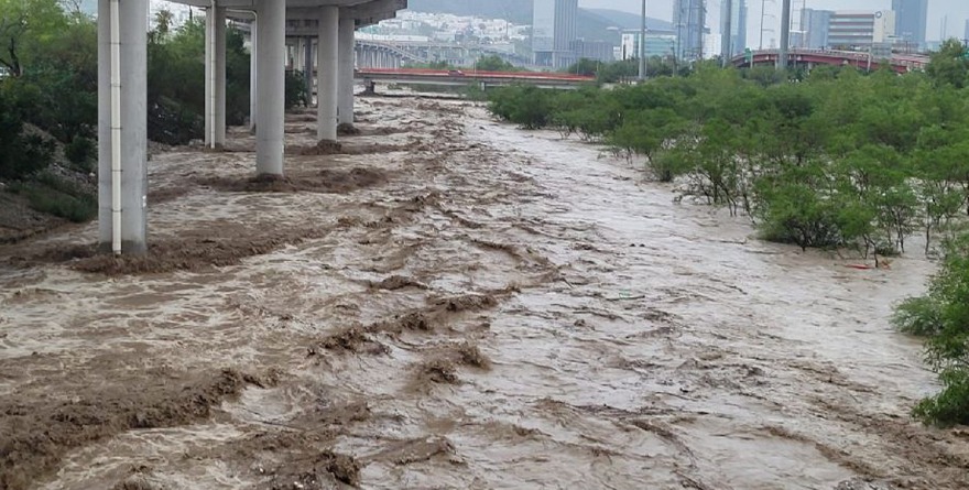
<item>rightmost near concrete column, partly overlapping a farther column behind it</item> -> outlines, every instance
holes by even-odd
[[[339,96],[339,23],[340,9],[328,6],[319,8],[319,61],[317,70],[317,127],[320,141],[337,140],[337,98]]]

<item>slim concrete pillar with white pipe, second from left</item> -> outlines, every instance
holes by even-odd
[[[226,145],[226,9],[205,17],[205,146]]]

